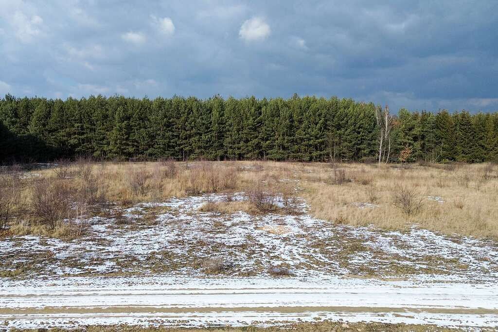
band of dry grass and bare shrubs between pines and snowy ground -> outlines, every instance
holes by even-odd
[[[13,167],[16,169],[18,167]],[[498,238],[498,166],[484,164],[330,164],[278,162],[92,162],[28,173],[4,169],[0,217],[11,233],[75,237],[84,216],[106,215],[171,197],[208,196],[202,211],[302,213],[353,225]],[[237,195],[235,195],[237,194]],[[236,199],[235,196],[238,198]],[[113,204],[113,206],[115,206]]]

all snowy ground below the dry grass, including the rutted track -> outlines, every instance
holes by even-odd
[[[198,211],[206,201],[112,207],[107,217],[86,221],[85,237],[71,241],[2,239],[0,321],[9,327],[296,319],[498,324],[493,241],[416,227],[337,225],[312,218],[303,203],[299,215]]]

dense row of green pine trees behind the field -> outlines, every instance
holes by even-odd
[[[498,159],[498,113],[389,113],[352,99],[214,96],[0,99],[0,160],[483,162]]]

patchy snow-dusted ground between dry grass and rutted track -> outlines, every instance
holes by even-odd
[[[205,277],[203,262],[222,259],[230,268],[221,273],[229,276],[267,275],[269,267],[282,265],[298,277],[497,280],[498,248],[491,241],[417,228],[398,232],[337,225],[307,214],[199,212],[205,202],[206,197],[190,197],[139,204],[120,214],[115,210],[119,217],[89,219],[86,236],[71,241],[7,237],[0,241],[1,275]]]

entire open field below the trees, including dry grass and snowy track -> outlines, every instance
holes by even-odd
[[[0,321],[97,331],[494,328],[497,185],[494,164],[8,168]]]

